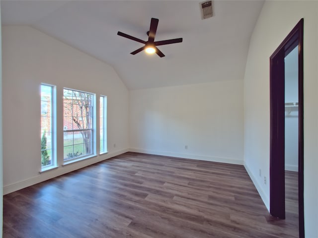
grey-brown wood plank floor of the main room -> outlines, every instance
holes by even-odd
[[[138,153],[3,197],[4,238],[296,238],[287,217],[243,166]]]

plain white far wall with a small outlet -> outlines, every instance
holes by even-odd
[[[233,80],[130,91],[131,150],[242,164],[242,87]]]

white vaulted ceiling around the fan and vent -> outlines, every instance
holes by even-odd
[[[193,0],[48,1],[1,0],[3,25],[30,25],[112,65],[129,89],[220,80],[242,80],[251,33],[263,2],[215,0],[214,16],[201,19]],[[151,18],[158,18],[156,41],[183,38],[159,46],[165,55],[130,52],[147,41]]]

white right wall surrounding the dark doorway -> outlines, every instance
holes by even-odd
[[[318,238],[318,1],[265,1],[244,77],[244,163],[269,208],[269,57],[304,17],[304,203],[306,238]],[[259,176],[259,169],[262,176]]]

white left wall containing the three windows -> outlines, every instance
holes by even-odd
[[[111,66],[28,26],[4,26],[2,46],[4,194],[128,150],[129,93]],[[63,87],[107,96],[108,154],[39,174],[40,83],[57,85],[58,163],[63,164]]]

